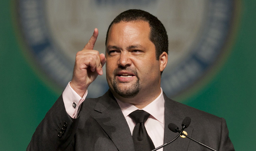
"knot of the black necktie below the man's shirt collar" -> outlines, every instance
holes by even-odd
[[[150,114],[144,110],[136,110],[136,111],[131,112],[131,114],[129,114],[129,116],[135,122],[135,124],[137,124],[137,123],[146,122],[146,120],[149,118]]]

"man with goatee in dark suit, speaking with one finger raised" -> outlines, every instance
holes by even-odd
[[[218,151],[234,151],[223,118],[172,101],[162,92],[168,38],[155,16],[143,10],[118,15],[107,31],[106,56],[93,50],[97,36],[94,29],[77,53],[72,81],[37,127],[27,150],[150,151],[177,135],[168,129],[169,123],[180,125],[191,117],[185,129],[189,136]],[[97,99],[85,99],[105,62],[110,90]],[[142,114],[146,117],[137,123]],[[164,150],[207,149],[178,138]]]

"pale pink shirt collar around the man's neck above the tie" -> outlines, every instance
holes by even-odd
[[[130,103],[125,103],[119,101],[117,98],[115,98],[123,112],[124,117],[127,117],[131,112],[137,110],[138,108]],[[165,121],[165,99],[163,95],[163,91],[161,88],[161,94],[155,99],[153,102],[151,102],[149,105],[144,107],[142,110],[148,112],[150,115],[152,115],[156,120],[164,124]]]

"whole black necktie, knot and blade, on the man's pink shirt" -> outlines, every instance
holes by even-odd
[[[131,119],[136,123],[133,129],[133,143],[135,151],[151,151],[155,148],[154,143],[146,132],[144,122],[149,118],[150,114],[144,110],[136,110],[130,115]]]

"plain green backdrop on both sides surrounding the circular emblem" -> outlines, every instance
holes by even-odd
[[[60,93],[39,79],[25,59],[11,3],[2,0],[0,5],[0,150],[22,151]],[[256,150],[255,6],[255,0],[242,1],[230,55],[207,85],[183,101],[224,117],[236,151]]]

